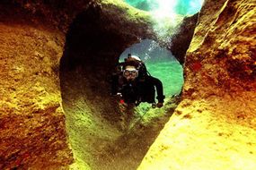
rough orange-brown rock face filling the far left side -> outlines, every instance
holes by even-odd
[[[57,71],[63,35],[0,23],[0,39],[0,168],[70,164]]]

